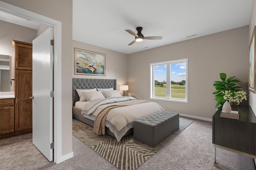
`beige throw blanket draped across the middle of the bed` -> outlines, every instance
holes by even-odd
[[[150,102],[147,100],[132,100],[132,101],[128,101],[125,103],[119,103],[119,104],[113,104],[111,106],[106,107],[104,110],[102,110],[96,117],[95,121],[94,121],[94,127],[93,127],[93,131],[97,134],[97,135],[105,135],[105,120],[106,117],[108,115],[108,112],[110,111],[110,109],[116,108],[116,107],[122,107],[122,106],[131,106],[131,105],[135,105],[135,104],[142,104],[142,103],[146,103],[146,102]]]

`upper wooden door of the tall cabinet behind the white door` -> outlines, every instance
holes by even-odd
[[[32,70],[32,44],[13,40],[15,69]]]

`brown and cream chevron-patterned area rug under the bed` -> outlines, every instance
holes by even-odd
[[[164,145],[169,143],[174,137],[182,132],[193,121],[180,117],[180,129],[164,139],[156,147],[150,147],[133,139],[133,134],[126,135],[120,142],[110,135],[97,136],[93,127],[85,123],[78,122],[72,125],[73,135],[85,145],[100,154],[111,164],[120,170],[136,170],[146,160],[153,156]]]

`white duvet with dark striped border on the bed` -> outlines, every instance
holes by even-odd
[[[106,98],[94,102],[86,102],[82,108],[81,114],[84,117],[95,120],[96,116],[107,106],[113,105],[115,102],[126,102],[136,100],[135,98],[124,96],[118,98]],[[158,111],[164,110],[159,104],[154,102],[146,102],[132,106],[116,107],[109,111],[105,126],[114,133],[116,140],[119,142],[126,132],[133,128],[133,121],[147,115],[151,115]]]

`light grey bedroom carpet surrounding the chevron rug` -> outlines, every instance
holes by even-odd
[[[213,166],[212,122],[183,118],[193,123],[137,170],[218,170]],[[38,170],[117,170],[74,136],[73,152],[73,158]],[[217,149],[217,163],[230,170],[254,169],[251,158],[222,149]]]

